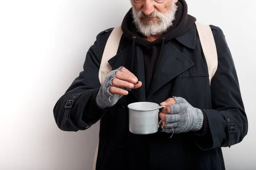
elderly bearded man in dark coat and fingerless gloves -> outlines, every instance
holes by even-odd
[[[222,30],[210,26],[218,68],[209,85],[196,19],[185,0],[131,5],[117,55],[108,60],[112,71],[101,85],[99,67],[113,28],[98,34],[84,71],[56,103],[58,127],[86,130],[100,120],[97,170],[224,170],[221,147],[241,142],[248,125]],[[168,106],[157,133],[129,131],[127,105],[142,101]]]

